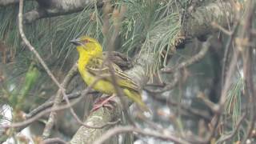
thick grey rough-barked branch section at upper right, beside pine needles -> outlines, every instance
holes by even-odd
[[[212,26],[212,22],[226,27],[232,23],[234,16],[230,2],[216,1],[206,6],[198,7],[193,13],[186,14],[182,33],[187,37],[201,37],[218,30]]]

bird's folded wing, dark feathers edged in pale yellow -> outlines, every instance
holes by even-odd
[[[115,77],[117,78],[118,86],[122,88],[128,88],[132,90],[138,90],[138,85],[127,75],[125,74],[116,64],[111,63]],[[106,80],[112,82],[112,78],[110,76],[110,68],[106,66],[103,62],[102,58],[92,58],[90,62],[86,65],[86,70],[95,76],[104,75],[106,76]]]

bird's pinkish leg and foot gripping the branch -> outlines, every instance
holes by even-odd
[[[113,94],[110,97],[104,97],[104,98],[99,98],[95,103],[94,103],[94,107],[91,111],[95,111],[98,110],[101,107],[107,107],[110,109],[113,109],[113,105],[112,102],[115,102],[114,100],[112,100],[111,98],[114,98],[116,95]]]

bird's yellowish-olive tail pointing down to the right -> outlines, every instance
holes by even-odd
[[[142,102],[142,96],[140,93],[134,90],[127,90],[127,89],[124,89],[123,92],[126,94],[127,97],[129,97],[134,102],[136,102],[140,109],[142,109],[143,111],[150,112],[150,109],[146,106],[144,102]]]

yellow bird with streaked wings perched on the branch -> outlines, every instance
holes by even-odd
[[[94,38],[88,36],[82,36],[70,42],[72,42],[78,50],[78,70],[86,84],[90,86],[102,75],[104,78],[94,84],[94,90],[98,90],[103,94],[116,94],[109,66],[106,66],[104,62],[101,44]],[[136,102],[142,110],[149,111],[145,103],[142,102],[141,91],[138,90],[138,85],[116,64],[111,63],[111,65],[114,69],[117,84],[122,89],[123,93]]]

